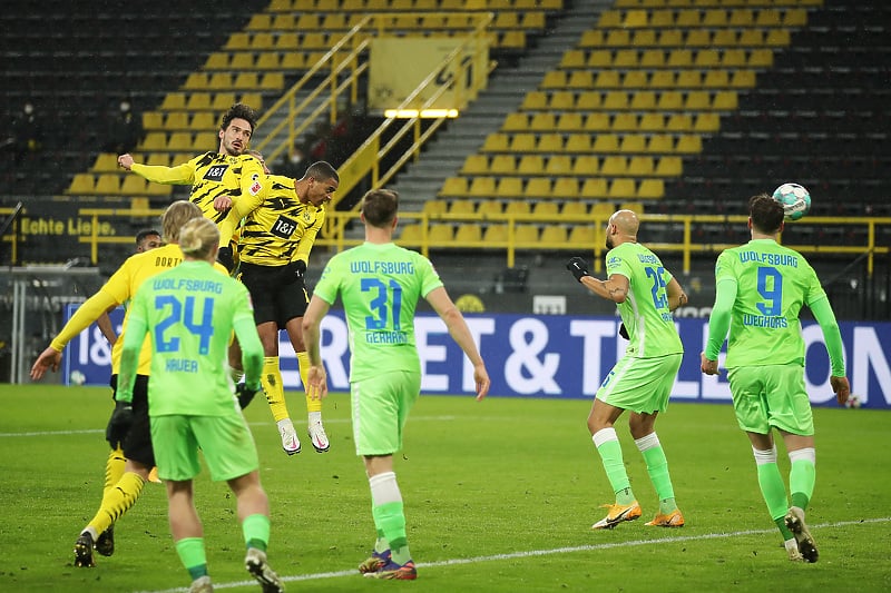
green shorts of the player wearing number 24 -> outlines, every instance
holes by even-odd
[[[158,477],[182,482],[200,473],[198,449],[210,478],[223,482],[260,467],[254,436],[241,413],[228,416],[151,416]]]

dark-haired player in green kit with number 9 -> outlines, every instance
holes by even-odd
[[[839,404],[851,387],[844,374],[839,324],[820,279],[804,257],[776,243],[783,207],[771,196],[748,202],[752,240],[726,249],[715,266],[715,306],[702,370],[718,373],[717,360],[730,330],[724,366],[740,428],[752,443],[758,485],[792,561],[816,562],[817,551],[804,523],[815,483],[814,424],[804,387],[804,340],[799,312],[806,305],[826,342],[830,384]],[[773,429],[783,437],[792,467],[792,505],[776,464]]]

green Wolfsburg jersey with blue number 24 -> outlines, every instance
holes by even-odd
[[[229,339],[239,319],[254,323],[243,284],[205,261],[184,261],[147,279],[129,316],[131,330],[151,337],[149,415],[232,414]]]

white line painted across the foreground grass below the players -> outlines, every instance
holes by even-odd
[[[862,518],[860,521],[838,521],[834,523],[820,523],[812,524],[809,527],[825,528],[825,527],[846,527],[850,525],[860,525],[862,523],[889,523],[891,517],[877,517],[877,518]],[[474,556],[470,559],[452,559],[441,560],[438,562],[420,562],[419,569],[435,569],[440,566],[458,566],[460,564],[478,564],[480,562],[492,562],[499,560],[515,560],[528,559],[532,556],[551,556],[554,554],[566,554],[571,552],[593,552],[596,550],[611,550],[616,547],[635,547],[640,545],[679,543],[679,542],[695,542],[702,540],[723,540],[728,537],[741,537],[743,535],[764,535],[775,533],[775,528],[771,530],[746,530],[735,531],[731,533],[705,533],[703,535],[682,535],[679,537],[656,537],[654,540],[633,540],[630,542],[609,542],[605,544],[590,544],[590,545],[575,545],[567,547],[555,547],[552,550],[530,550],[527,552],[511,552],[509,554],[491,554],[488,556]],[[359,576],[359,571],[353,569],[350,571],[323,572],[314,574],[302,574],[295,576],[282,576],[282,581],[293,583],[297,581],[315,581],[319,579],[337,579],[340,576]],[[234,589],[236,586],[248,586],[256,584],[256,581],[238,581],[235,583],[214,583],[214,589]],[[165,589],[163,591],[150,591],[139,593],[177,593],[187,591],[187,587]]]

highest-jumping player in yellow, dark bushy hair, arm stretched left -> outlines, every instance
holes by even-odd
[[[192,185],[189,200],[219,226],[221,261],[232,268],[232,235],[242,218],[263,204],[266,175],[260,161],[246,155],[256,128],[256,113],[243,103],[233,105],[219,126],[219,147],[176,167],[141,165],[120,155],[118,165],[149,181]]]

